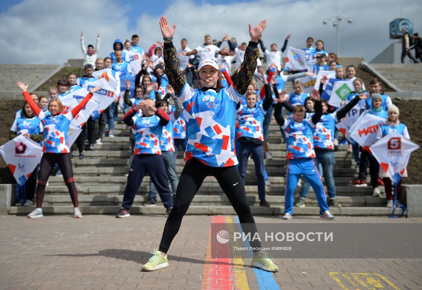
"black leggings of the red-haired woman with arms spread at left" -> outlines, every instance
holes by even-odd
[[[82,134],[83,132],[81,132]],[[42,207],[46,183],[49,180],[54,164],[58,164],[62,171],[65,184],[68,186],[70,198],[74,207],[78,207],[78,191],[73,181],[72,159],[70,153],[44,153],[41,158],[40,170],[38,172],[37,207]]]

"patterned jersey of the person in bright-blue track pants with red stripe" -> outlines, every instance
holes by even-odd
[[[287,159],[314,158],[315,150],[312,142],[315,125],[312,119],[304,119],[301,123],[284,119],[281,129],[287,137]]]

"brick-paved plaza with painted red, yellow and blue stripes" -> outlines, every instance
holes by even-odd
[[[235,220],[235,216],[228,216]],[[158,248],[164,216],[0,217],[3,289],[422,289],[422,259],[276,259],[279,272],[250,259],[207,256],[211,216],[187,215],[169,251],[169,267],[142,272]],[[257,223],[421,223],[421,218],[257,216]],[[417,233],[415,233],[417,234]],[[419,233],[420,234],[420,233]],[[398,245],[399,247],[399,245]],[[394,249],[391,249],[394,250]],[[209,252],[208,252],[209,254]]]

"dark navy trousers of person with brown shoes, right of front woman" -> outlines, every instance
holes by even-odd
[[[264,149],[262,148],[262,144],[239,142],[237,152],[239,174],[243,184],[245,184],[246,168],[248,167],[248,158],[251,153],[255,163],[255,174],[257,175],[258,196],[259,199],[265,199]]]

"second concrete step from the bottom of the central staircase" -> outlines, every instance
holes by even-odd
[[[259,205],[260,199],[258,195],[247,195],[246,199],[249,205]],[[295,196],[295,202],[297,202],[299,196]],[[265,200],[271,206],[283,206],[284,207],[284,196],[265,196]],[[374,197],[374,196],[337,196],[336,200],[341,204],[342,207],[384,207],[387,204],[385,196]],[[135,196],[134,205],[144,205],[148,201],[148,195],[137,195]],[[78,202],[80,206],[84,205],[121,205],[123,203],[123,195],[80,195],[78,196]],[[35,203],[34,203],[35,205]],[[43,206],[60,206],[60,205],[72,205],[70,197],[66,195],[46,195],[43,200]],[[225,195],[200,195],[197,194],[192,200],[191,205],[230,205],[230,201]],[[318,206],[316,196],[310,194],[305,200],[306,207]],[[156,206],[162,207],[160,196],[157,196]]]

